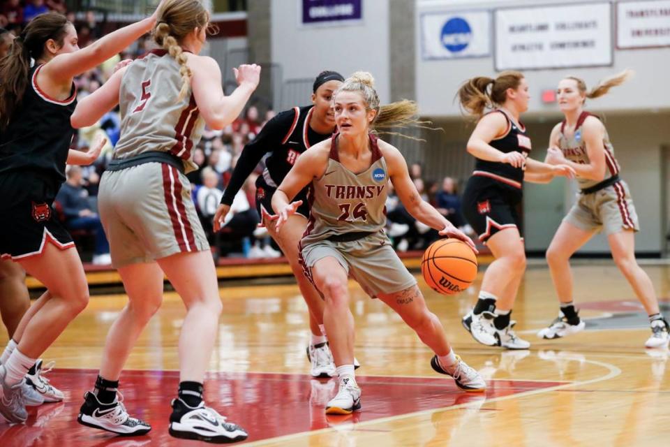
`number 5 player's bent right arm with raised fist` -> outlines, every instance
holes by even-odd
[[[200,115],[211,129],[223,129],[237,118],[258,86],[260,66],[241,65],[233,68],[237,89],[230,96],[223,94],[221,68],[214,59],[207,56],[188,58],[188,66],[193,72],[191,86]]]

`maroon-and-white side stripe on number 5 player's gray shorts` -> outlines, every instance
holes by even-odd
[[[161,163],[161,169],[163,171],[165,205],[168,207],[170,222],[172,222],[172,231],[179,245],[179,250],[196,251],[197,247],[195,247],[193,228],[191,228],[191,222],[188,220],[188,215],[184,209],[184,202],[181,199],[179,171],[174,166],[165,163]]]

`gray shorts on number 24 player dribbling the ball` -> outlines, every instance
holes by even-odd
[[[312,268],[328,256],[335,258],[372,298],[377,298],[380,293],[386,295],[403,291],[417,284],[383,233],[351,242],[320,240],[301,247],[300,262],[312,284]]]

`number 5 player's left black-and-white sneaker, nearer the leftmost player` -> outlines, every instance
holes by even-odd
[[[111,404],[102,404],[96,395],[87,391],[84,395],[84,404],[77,416],[77,422],[121,436],[138,436],[149,433],[151,425],[145,423],[144,420],[131,417],[122,403],[123,400],[123,395],[118,393],[116,401]]]

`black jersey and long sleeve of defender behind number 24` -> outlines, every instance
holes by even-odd
[[[276,188],[291,170],[300,154],[311,146],[330,138],[332,134],[316,133],[309,126],[314,109],[312,105],[295,107],[279,113],[263,126],[258,136],[249,142],[239,156],[221,203],[232,204],[237,191],[258,165],[265,159],[265,182]]]

